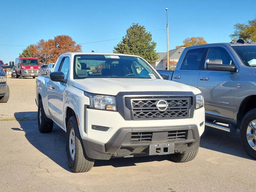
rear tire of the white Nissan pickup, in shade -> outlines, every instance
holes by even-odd
[[[41,110],[41,123],[40,123],[40,110]],[[38,122],[38,129],[41,133],[52,132],[53,121],[47,118],[47,116],[45,115],[42,100],[39,100],[38,102],[37,122]]]

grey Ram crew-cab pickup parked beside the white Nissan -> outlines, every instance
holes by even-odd
[[[228,132],[239,129],[245,151],[256,159],[256,43],[239,39],[187,47],[170,76],[200,89],[205,125]]]

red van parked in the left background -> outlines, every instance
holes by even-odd
[[[41,75],[41,66],[38,58],[16,58],[15,59],[16,78],[33,77]]]

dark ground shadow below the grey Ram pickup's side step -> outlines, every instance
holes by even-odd
[[[201,137],[200,147],[254,160],[244,151],[239,130],[229,133],[206,126]]]

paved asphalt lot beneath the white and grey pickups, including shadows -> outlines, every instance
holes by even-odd
[[[70,172],[65,132],[40,133],[36,121],[0,122],[0,191],[255,191],[255,160],[239,132],[206,128],[196,158],[167,156],[96,160],[90,172]]]

